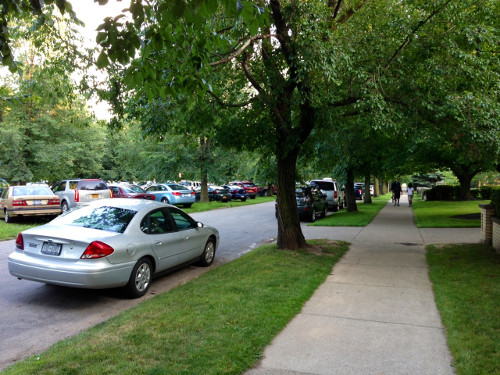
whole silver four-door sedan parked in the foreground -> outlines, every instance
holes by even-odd
[[[103,199],[17,236],[9,272],[74,288],[124,287],[144,295],[153,276],[181,264],[212,264],[217,229],[175,206],[146,199]]]

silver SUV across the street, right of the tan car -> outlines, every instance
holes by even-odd
[[[52,191],[61,200],[63,212],[96,199],[112,196],[108,185],[100,178],[62,180],[52,186]]]

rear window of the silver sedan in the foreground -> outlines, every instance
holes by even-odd
[[[53,223],[123,233],[136,213],[119,207],[82,206],[59,216]]]

